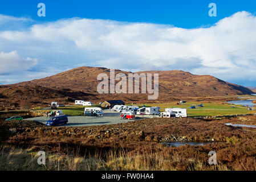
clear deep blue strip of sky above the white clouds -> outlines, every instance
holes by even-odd
[[[36,6],[43,2],[47,6],[47,16],[39,18]],[[218,7],[218,16],[208,16],[208,5],[214,2]],[[125,22],[148,22],[173,24],[176,27],[196,28],[209,26],[237,11],[256,12],[254,0],[94,0],[94,1],[13,1],[1,0],[0,13],[11,16],[28,16],[40,22],[62,18],[111,19]]]

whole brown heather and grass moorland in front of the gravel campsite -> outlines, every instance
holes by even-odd
[[[0,133],[6,145],[0,150],[0,169],[255,170],[256,130],[225,126],[227,122],[255,125],[256,118],[220,121],[159,118],[78,128],[46,127],[25,121],[2,122]],[[213,138],[214,143],[166,147],[155,140],[166,136],[184,136],[192,141]],[[38,151],[46,151],[46,166],[37,164]],[[209,151],[217,152],[216,166],[208,164]]]

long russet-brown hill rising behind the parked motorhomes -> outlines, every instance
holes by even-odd
[[[75,99],[104,101],[121,99],[124,101],[146,102],[147,94],[99,94],[97,75],[109,69],[101,67],[79,67],[56,75],[0,86],[0,104],[19,102],[28,98],[33,102],[49,103],[52,100],[68,101]],[[115,74],[131,72],[115,70]],[[192,75],[183,71],[144,71],[140,73],[159,73],[158,101],[171,101],[184,97],[227,96],[251,94],[249,88],[231,84],[209,75]],[[117,81],[116,81],[117,82]],[[127,86],[128,87],[128,86]]]

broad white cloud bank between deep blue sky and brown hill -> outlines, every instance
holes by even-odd
[[[129,71],[183,69],[227,81],[246,80],[256,73],[256,17],[241,11],[211,27],[193,29],[61,19],[0,31],[0,51],[13,49],[23,57],[39,57],[45,67],[58,61]],[[256,77],[250,79],[256,82]]]

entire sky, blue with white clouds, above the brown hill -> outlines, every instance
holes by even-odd
[[[256,86],[256,1],[1,0],[0,64],[0,84],[92,66]]]

